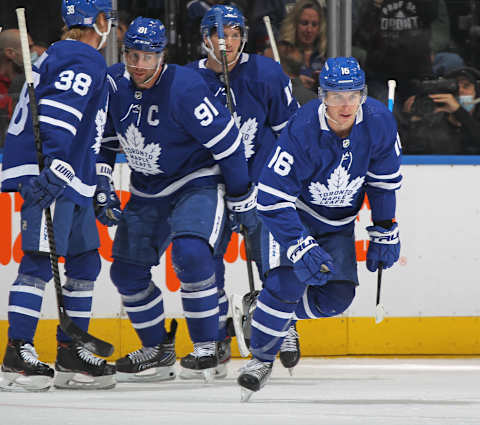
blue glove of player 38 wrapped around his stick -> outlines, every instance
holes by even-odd
[[[52,161],[45,158],[45,168],[40,175],[32,177],[28,184],[22,187],[22,197],[38,203],[42,209],[48,208],[74,177],[75,172],[70,164],[59,159]]]

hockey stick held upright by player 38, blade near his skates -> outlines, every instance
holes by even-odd
[[[30,60],[30,48],[28,45],[27,24],[25,21],[25,9],[16,9],[18,28],[20,31],[20,42],[22,47],[23,68],[25,70],[25,79],[30,97],[30,109],[32,111],[33,133],[35,139],[35,148],[37,150],[38,168],[41,172],[45,167],[45,161],[42,153],[42,141],[40,139],[40,125],[38,121],[38,107],[35,97],[35,89],[32,73],[32,62]],[[55,246],[55,236],[53,233],[53,221],[50,207],[45,208],[45,221],[47,224],[48,243],[50,245],[50,264],[52,267],[53,281],[55,283],[55,293],[57,296],[58,318],[62,330],[74,341],[81,343],[87,350],[108,357],[113,353],[113,345],[102,341],[80,329],[68,316],[63,301],[62,284],[60,281],[60,272],[58,269],[58,254]]]

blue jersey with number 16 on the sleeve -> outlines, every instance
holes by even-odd
[[[263,168],[258,211],[280,245],[353,226],[365,193],[374,221],[395,217],[401,145],[392,113],[367,98],[347,138],[312,100],[290,120]],[[306,226],[305,226],[305,225]]]

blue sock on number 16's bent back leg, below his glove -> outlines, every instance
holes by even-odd
[[[302,296],[295,316],[298,319],[332,317],[343,313],[355,297],[355,283],[330,281],[323,286],[309,286]]]

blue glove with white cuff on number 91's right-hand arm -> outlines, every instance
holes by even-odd
[[[240,232],[240,226],[245,226],[252,233],[258,225],[257,218],[257,187],[252,185],[242,196],[225,196],[229,218],[234,232]]]

